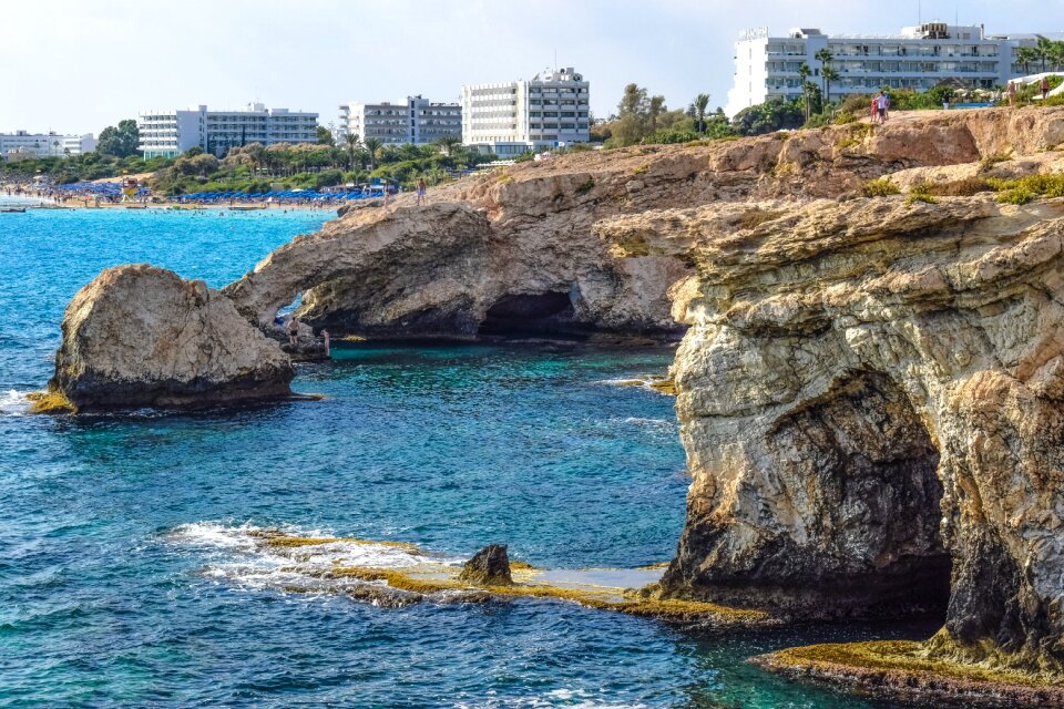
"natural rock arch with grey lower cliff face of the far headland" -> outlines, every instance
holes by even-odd
[[[585,229],[559,233],[542,217],[499,226],[470,203],[364,209],[296,237],[224,292],[263,326],[303,292],[299,315],[315,326],[413,337],[475,336],[500,302],[569,294],[579,328],[678,333],[666,291],[686,266],[615,258]]]

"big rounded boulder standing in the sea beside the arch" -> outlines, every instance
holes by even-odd
[[[50,388],[79,410],[196,407],[287,397],[280,347],[202,280],[109,268],[66,308]]]

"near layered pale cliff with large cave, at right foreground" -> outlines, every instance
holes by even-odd
[[[1061,671],[1064,201],[734,215],[597,227],[698,271],[673,371],[694,481],[664,585],[821,617],[933,603],[949,578],[929,651]]]

